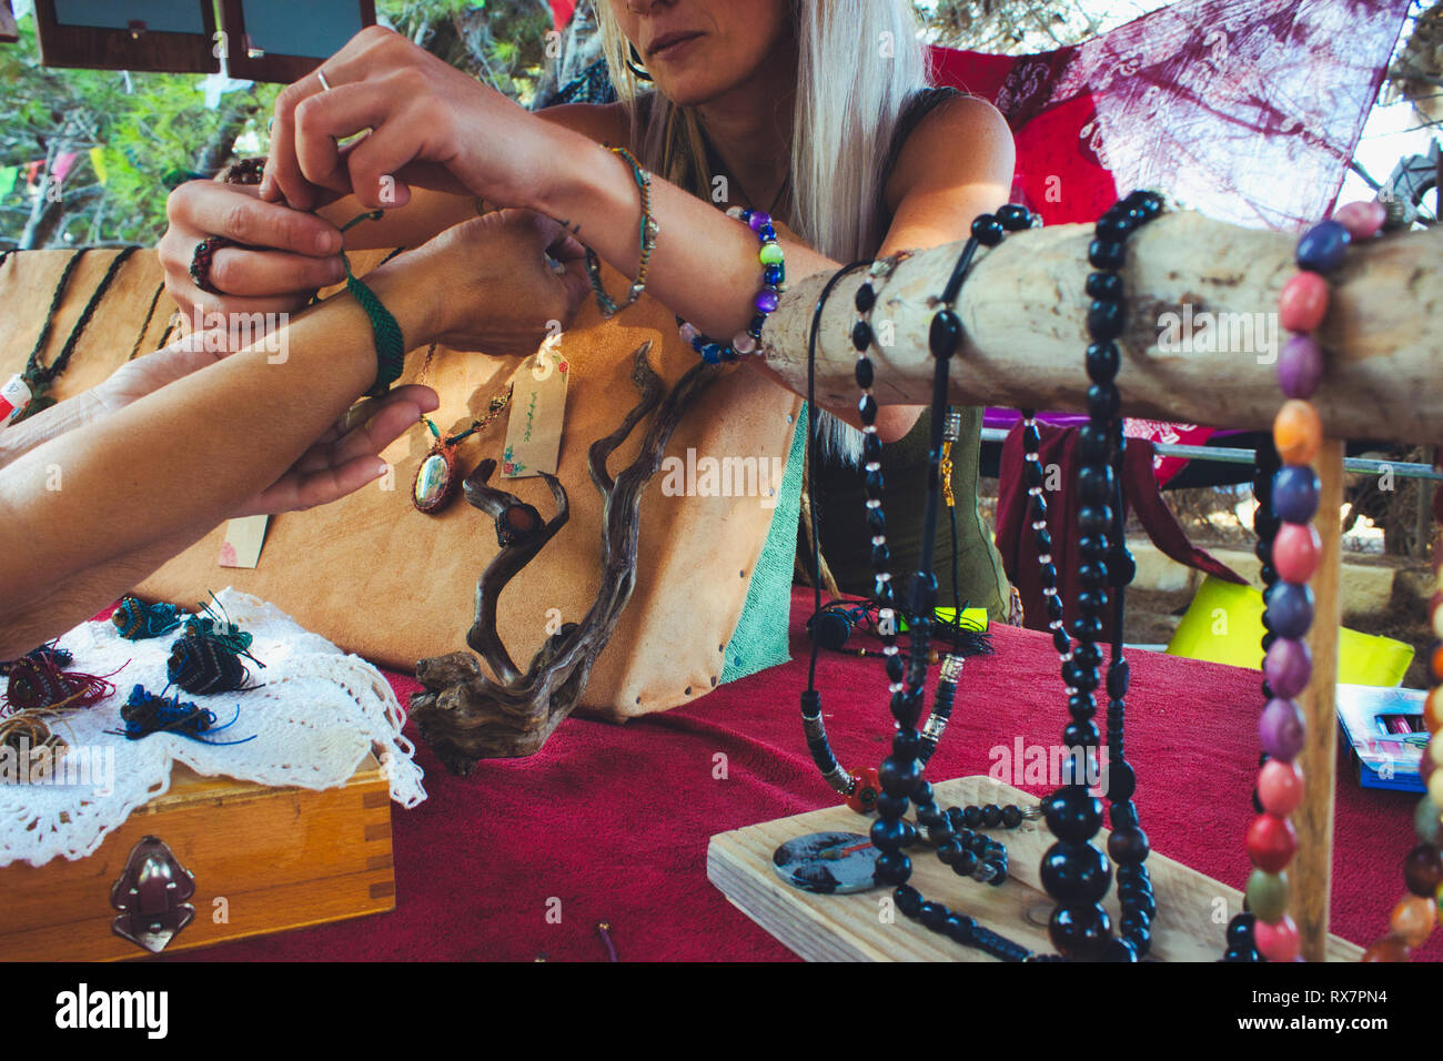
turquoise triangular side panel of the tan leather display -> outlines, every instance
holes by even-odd
[[[752,570],[742,618],[726,647],[722,681],[734,681],[791,660],[786,631],[792,612],[792,570],[797,564],[797,525],[802,507],[802,460],[807,443],[807,403],[792,432],[782,485],[772,512],[772,528]]]

